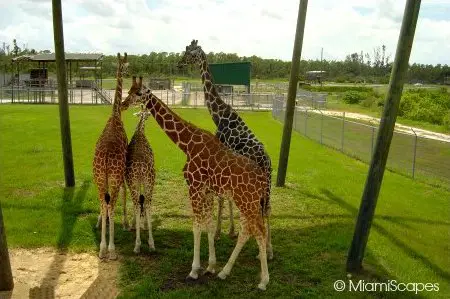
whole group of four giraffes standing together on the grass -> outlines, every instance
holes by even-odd
[[[97,227],[101,226],[100,258],[116,259],[114,245],[114,208],[123,193],[123,226],[128,229],[126,185],[134,205],[132,226],[136,228],[134,252],[141,247],[141,220],[148,226],[150,249],[155,249],[152,236],[151,201],[155,182],[154,157],[145,137],[144,125],[151,114],[167,136],[182,150],[187,161],[183,168],[189,188],[193,211],[194,259],[188,278],[197,279],[200,271],[200,237],[208,233],[209,259],[205,273],[215,273],[214,242],[220,236],[222,209],[229,202],[230,235],[234,235],[233,205],[240,212],[241,229],[237,244],[222,271],[225,279],[247,240],[254,236],[261,262],[261,281],[258,288],[265,290],[269,282],[267,259],[272,259],[269,216],[271,191],[271,160],[238,113],[219,96],[212,82],[206,54],[193,40],[186,47],[178,67],[198,65],[204,86],[205,102],[217,126],[215,135],[185,121],[157,98],[150,89],[133,76],[132,86],[122,100],[123,75],[128,71],[127,55],[118,56],[117,84],[113,111],[100,135],[93,161],[94,181],[101,203]],[[140,120],[128,143],[121,113],[131,105],[140,105]],[[219,198],[217,224],[213,221],[214,195]],[[109,244],[106,247],[106,228],[109,220]]]

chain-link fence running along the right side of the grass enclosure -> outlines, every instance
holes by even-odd
[[[272,116],[284,121],[285,97],[274,98]],[[326,111],[296,106],[293,130],[323,145],[369,163],[374,150],[378,127],[327,115]],[[450,143],[428,139],[411,133],[395,131],[387,168],[413,178],[438,180],[450,185]]]

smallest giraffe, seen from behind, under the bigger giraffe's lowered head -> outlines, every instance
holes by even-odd
[[[136,227],[136,242],[134,252],[139,253],[141,248],[141,217],[148,223],[148,246],[155,250],[155,242],[152,235],[151,200],[155,182],[155,168],[153,151],[145,137],[145,121],[148,113],[139,112],[139,122],[127,150],[125,179],[130,189],[134,205],[134,219]]]

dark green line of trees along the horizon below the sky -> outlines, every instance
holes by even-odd
[[[2,71],[11,71],[11,59],[21,55],[33,55],[38,53],[50,53],[49,50],[28,49],[26,45],[20,47],[16,40],[12,45],[3,43],[0,49],[0,64]],[[197,67],[178,69],[177,63],[182,53],[174,52],[150,52],[142,55],[129,55],[130,73],[145,77],[187,77],[198,78]],[[207,53],[209,63],[250,62],[251,77],[253,79],[282,79],[289,78],[291,62],[280,59],[265,59],[258,56],[239,56],[236,53]],[[116,56],[105,55],[102,60],[102,76],[114,77],[116,71]],[[86,65],[86,64],[84,64]],[[81,64],[79,66],[82,66]],[[21,69],[37,67],[31,63],[21,63]],[[325,81],[338,83],[388,83],[392,68],[392,61],[387,54],[386,46],[382,45],[373,49],[372,53],[354,52],[339,60],[302,60],[300,62],[301,73],[299,79],[304,80],[307,71],[325,71]],[[48,65],[50,73],[55,72],[55,65]],[[74,70],[75,76],[78,70]],[[450,66],[413,63],[409,66],[407,81],[409,83],[434,83],[442,84],[445,78],[450,77]],[[450,81],[450,79],[447,79]]]

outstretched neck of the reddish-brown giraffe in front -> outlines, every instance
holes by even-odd
[[[188,143],[192,140],[193,133],[197,128],[179,117],[152,93],[146,96],[144,106],[172,142],[185,154],[188,154]]]

